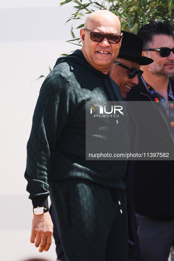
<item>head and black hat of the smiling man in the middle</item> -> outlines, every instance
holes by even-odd
[[[142,38],[123,32],[122,44],[117,59],[110,68],[110,76],[120,88],[122,99],[126,98],[130,89],[138,84],[138,78],[143,71],[140,65],[148,65],[152,59],[142,56]]]

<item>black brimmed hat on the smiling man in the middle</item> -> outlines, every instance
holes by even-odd
[[[118,58],[137,62],[140,65],[148,65],[153,62],[152,59],[142,56],[142,37],[122,30],[121,32],[123,36]]]

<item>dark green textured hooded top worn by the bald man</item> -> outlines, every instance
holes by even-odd
[[[54,180],[84,179],[124,189],[126,161],[85,160],[85,102],[109,100],[122,100],[109,72],[93,68],[80,50],[57,60],[41,87],[27,144],[25,178],[34,207],[44,205],[48,182]],[[126,122],[117,124],[113,141],[115,146],[124,141],[128,150]]]

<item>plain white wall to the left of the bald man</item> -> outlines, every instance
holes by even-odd
[[[62,0],[63,1],[63,0]],[[26,192],[26,143],[43,79],[59,54],[76,49],[72,7],[58,0],[0,1],[0,260],[56,260],[55,245],[39,253],[30,243],[32,202]],[[78,25],[82,22],[78,20]]]

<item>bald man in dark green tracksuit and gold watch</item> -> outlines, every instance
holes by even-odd
[[[126,161],[85,160],[85,101],[122,100],[108,72],[121,44],[119,19],[95,11],[80,36],[82,50],[57,60],[34,111],[25,172],[34,212],[30,241],[39,252],[51,245],[50,194],[67,261],[124,261],[128,236],[121,178]],[[113,139],[119,134],[129,149],[124,117]],[[101,142],[105,132],[102,126]]]

